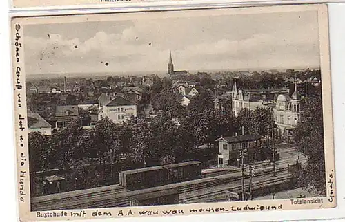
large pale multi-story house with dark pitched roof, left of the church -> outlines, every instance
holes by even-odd
[[[137,105],[119,96],[107,104],[103,104],[98,113],[98,120],[108,117],[113,122],[119,123],[137,117]]]

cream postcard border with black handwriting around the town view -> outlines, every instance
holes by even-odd
[[[325,129],[325,158],[326,158],[326,179],[331,179],[331,182],[335,183],[335,177],[334,177],[334,155],[333,155],[333,118],[332,118],[332,106],[331,106],[331,72],[330,72],[330,60],[329,60],[329,49],[328,49],[328,16],[327,16],[327,8],[326,5],[308,5],[308,6],[288,6],[288,7],[270,7],[270,8],[251,8],[251,9],[242,9],[239,8],[237,10],[233,10],[232,13],[237,12],[238,14],[246,13],[246,10],[249,12],[247,13],[253,13],[253,10],[257,10],[260,13],[264,12],[273,12],[274,10],[277,10],[281,12],[282,10],[318,10],[319,11],[319,29],[320,36],[320,52],[321,52],[321,62],[322,62],[322,81],[323,81],[323,104],[324,104],[324,129]],[[214,10],[216,14],[219,14],[221,10]],[[226,10],[223,10],[222,12],[226,13]],[[152,13],[161,13],[164,14],[164,12],[152,12]],[[184,14],[187,14],[186,12],[183,12]],[[198,11],[190,12],[193,14],[198,14]],[[178,12],[177,12],[178,14]],[[110,16],[110,14],[106,15],[88,15],[88,16],[77,16],[73,18],[73,21],[75,22],[78,19],[86,19],[86,17],[103,17],[103,19],[106,19],[106,17]],[[122,14],[119,14],[119,17],[121,17]],[[124,16],[127,16],[127,14],[124,14]],[[136,15],[132,15],[136,16]],[[131,16],[131,18],[132,18]],[[15,138],[16,138],[16,145],[17,145],[17,170],[18,170],[18,197],[19,197],[19,209],[21,213],[21,221],[36,221],[38,219],[42,219],[41,217],[37,218],[37,214],[35,212],[30,212],[30,179],[29,179],[29,170],[28,170],[28,133],[26,132],[24,128],[27,127],[26,124],[26,97],[25,97],[25,67],[23,64],[23,26],[26,24],[30,24],[31,21],[35,20],[34,23],[40,23],[40,21],[45,20],[47,18],[40,17],[40,18],[14,18],[12,20],[12,65],[13,65],[13,75],[14,75],[14,107],[15,107]],[[57,18],[50,18],[50,19],[66,19],[65,17],[57,17]],[[70,17],[69,17],[70,19]],[[49,19],[48,19],[49,20]],[[97,20],[102,20],[102,18],[97,18]],[[56,20],[55,20],[56,21]],[[89,20],[91,21],[91,20]],[[45,21],[46,22],[46,21]],[[325,26],[326,25],[326,26]],[[326,27],[326,28],[325,28]],[[325,108],[326,107],[326,108]],[[22,145],[23,144],[23,145]],[[333,170],[333,171],[332,171]],[[331,173],[333,173],[333,177],[331,177]],[[138,210],[157,210],[158,214],[151,215],[151,216],[162,216],[164,215],[163,210],[176,210],[176,214],[179,214],[179,211],[183,211],[183,214],[191,214],[190,209],[200,209],[200,208],[212,208],[213,212],[231,212],[231,207],[234,206],[235,208],[241,207],[245,208],[246,205],[252,205],[255,206],[257,209],[253,211],[262,211],[262,206],[272,206],[275,207],[274,210],[295,210],[295,209],[314,209],[314,208],[332,208],[335,207],[335,197],[334,201],[332,203],[328,202],[328,198],[331,197],[331,190],[335,193],[335,188],[328,188],[327,189],[327,196],[328,197],[322,197],[322,200],[326,203],[324,205],[291,205],[291,200],[275,200],[275,201],[250,201],[250,202],[235,202],[235,203],[201,203],[201,204],[188,204],[188,206],[183,205],[176,205],[176,206],[153,206],[153,207],[139,207],[139,208],[106,208],[106,209],[98,209],[103,210],[103,212],[110,212],[112,217],[135,217],[135,215],[129,214],[128,210],[132,210],[132,212],[137,212],[139,214]],[[222,210],[223,208],[228,209]],[[230,207],[230,208],[228,208]],[[281,209],[280,209],[281,208]],[[218,209],[218,210],[215,210]],[[120,215],[120,210],[122,211],[122,215]],[[264,209],[266,210],[266,209]],[[267,209],[269,210],[269,209]],[[272,209],[270,209],[272,210]],[[82,217],[81,219],[91,218],[92,212],[94,212],[94,209],[86,209],[86,210],[65,210],[70,214],[70,212],[86,212],[87,217]],[[210,213],[210,211],[201,211],[201,212],[193,212],[193,214],[206,214]],[[250,211],[250,210],[249,210]],[[60,211],[57,211],[60,212]],[[187,213],[186,213],[187,212]],[[126,215],[127,214],[127,215]],[[139,216],[139,215],[137,215]],[[147,215],[146,215],[147,216]],[[109,215],[103,215],[102,217],[109,217]],[[77,219],[76,217],[68,216],[63,218],[43,218],[43,219]]]

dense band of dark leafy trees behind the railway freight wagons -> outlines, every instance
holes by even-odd
[[[199,99],[196,97],[194,101]],[[244,115],[235,118],[232,111],[213,109],[207,102],[184,109],[183,115],[177,115],[174,109],[169,106],[159,111],[156,118],[134,118],[121,124],[104,118],[90,130],[83,130],[81,121],[75,120],[51,136],[30,133],[30,171],[50,168],[76,171],[81,165],[97,164],[103,168],[110,166],[113,175],[119,170],[115,170],[117,164],[136,168],[192,159],[206,162],[215,159],[215,140],[240,133],[242,123],[246,122],[242,120]],[[265,113],[270,115],[264,109],[257,112],[262,112],[257,118]],[[207,148],[201,150],[202,144],[208,144]]]

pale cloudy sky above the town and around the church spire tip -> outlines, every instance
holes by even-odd
[[[26,73],[166,72],[319,67],[317,12],[24,27]]]

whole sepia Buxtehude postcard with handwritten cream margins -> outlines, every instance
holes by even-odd
[[[21,221],[336,206],[326,5],[12,19]]]

